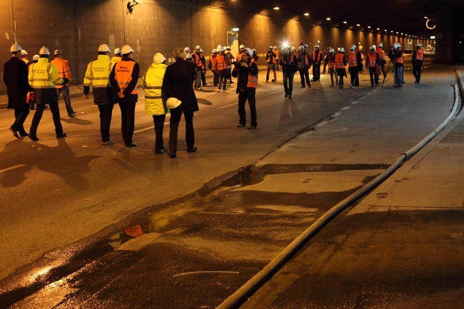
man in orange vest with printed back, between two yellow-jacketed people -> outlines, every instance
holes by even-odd
[[[121,49],[123,58],[113,66],[109,76],[111,88],[118,96],[116,100],[121,109],[121,133],[127,147],[135,147],[132,141],[135,126],[136,103],[138,100],[137,81],[140,66],[132,59],[133,49],[124,45]]]

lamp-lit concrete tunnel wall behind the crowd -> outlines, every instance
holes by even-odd
[[[141,74],[148,68],[156,52],[171,57],[174,47],[200,45],[205,56],[218,44],[227,44],[227,32],[233,27],[240,31],[239,42],[252,46],[261,55],[258,64],[265,64],[264,55],[270,45],[281,46],[284,41],[296,46],[300,42],[312,47],[370,44],[383,41],[384,46],[406,40],[394,36],[365,33],[333,26],[317,26],[311,19],[272,19],[263,14],[247,15],[174,0],[146,0],[126,14],[124,0],[37,0],[4,1],[0,11],[0,61],[10,58],[9,47],[18,43],[28,51],[28,58],[38,54],[41,46],[63,51],[74,81],[81,85],[90,61],[96,59],[99,44],[109,44],[111,51],[124,44],[134,49],[133,59],[141,66]],[[415,44],[415,42],[414,42]],[[384,48],[385,48],[384,47]],[[50,56],[53,60],[53,55]],[[2,76],[3,76],[3,66]],[[0,83],[0,94],[6,86]]]

